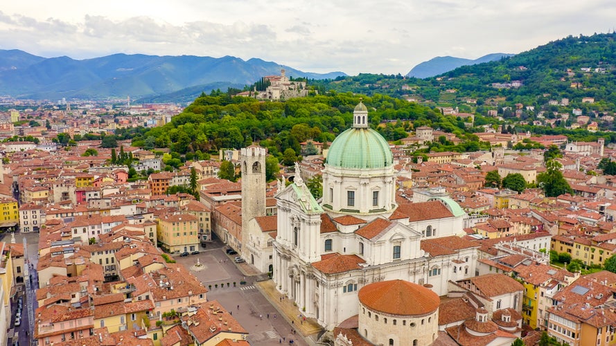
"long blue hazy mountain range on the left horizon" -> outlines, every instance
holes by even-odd
[[[73,60],[70,57],[44,58],[23,51],[0,50],[0,93],[16,98],[52,100],[63,97],[125,98],[129,95],[134,99],[151,98],[208,85],[229,84],[241,88],[264,75],[279,75],[281,69],[285,69],[287,76],[296,78],[324,79],[346,75],[342,72],[308,73],[275,62],[256,58],[244,61],[230,56],[114,54]],[[218,86],[212,89],[226,90]]]

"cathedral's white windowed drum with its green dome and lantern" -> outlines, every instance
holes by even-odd
[[[353,215],[367,221],[387,217],[396,209],[395,185],[389,144],[368,126],[368,109],[360,102],[353,111],[353,126],[328,150],[322,208],[333,217]]]

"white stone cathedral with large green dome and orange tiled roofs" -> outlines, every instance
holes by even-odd
[[[477,247],[459,238],[466,214],[455,201],[396,203],[391,149],[362,102],[329,149],[321,203],[295,177],[275,196],[273,279],[326,329],[358,314],[366,284],[402,279],[444,295],[448,280],[475,275]]]

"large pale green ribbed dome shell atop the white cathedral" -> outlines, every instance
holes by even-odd
[[[326,160],[326,164],[332,167],[352,169],[383,168],[393,162],[394,156],[385,138],[373,129],[357,127],[351,127],[336,137]]]

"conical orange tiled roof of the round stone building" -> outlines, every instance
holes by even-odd
[[[420,316],[439,309],[437,293],[405,280],[375,282],[358,293],[362,304],[373,311],[398,316]]]

